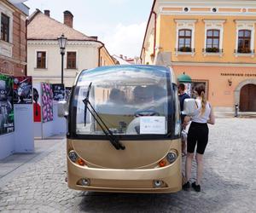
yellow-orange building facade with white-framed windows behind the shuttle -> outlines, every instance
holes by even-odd
[[[205,83],[218,111],[256,112],[255,26],[254,0],[155,0],[141,60]]]

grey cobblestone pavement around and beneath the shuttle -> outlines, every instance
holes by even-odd
[[[84,193],[67,188],[65,141],[0,185],[3,212],[255,212],[256,119],[210,126],[201,193]],[[195,177],[195,170],[193,173]]]

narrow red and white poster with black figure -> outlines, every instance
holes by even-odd
[[[41,84],[35,83],[33,85],[33,113],[34,113],[34,122],[41,122]]]

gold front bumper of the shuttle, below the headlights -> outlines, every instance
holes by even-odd
[[[174,193],[182,188],[181,158],[166,167],[154,169],[98,169],[73,164],[67,158],[68,187],[83,191],[122,193]],[[83,186],[82,178],[90,180]],[[162,181],[155,187],[154,181]]]

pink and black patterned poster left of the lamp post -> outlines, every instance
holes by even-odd
[[[41,83],[43,123],[53,120],[53,92],[51,84]]]

